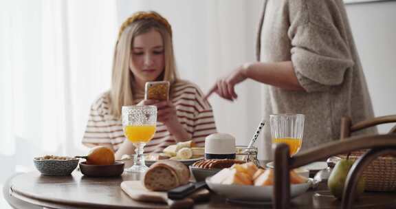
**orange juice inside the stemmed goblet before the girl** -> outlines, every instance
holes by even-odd
[[[125,126],[124,133],[132,143],[147,143],[154,136],[155,125]]]

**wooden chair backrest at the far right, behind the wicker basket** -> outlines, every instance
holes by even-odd
[[[340,139],[343,140],[344,138],[350,137],[351,133],[355,131],[360,131],[362,129],[366,129],[372,126],[391,122],[396,122],[396,115],[386,115],[382,117],[371,118],[369,120],[357,122],[356,124],[352,124],[351,118],[345,116],[341,119]],[[391,131],[389,131],[388,133],[396,133],[396,125],[393,126]]]

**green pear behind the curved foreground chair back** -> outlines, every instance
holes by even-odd
[[[345,181],[347,180],[347,175],[354,162],[355,161],[351,159],[340,159],[329,176],[327,186],[329,186],[331,193],[338,199],[342,199]],[[355,192],[355,198],[358,198],[364,192],[364,183],[364,177],[360,177]]]

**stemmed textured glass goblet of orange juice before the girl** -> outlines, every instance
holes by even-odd
[[[126,139],[135,146],[133,166],[129,173],[144,173],[144,146],[153,138],[157,122],[157,107],[152,105],[122,106],[122,128]]]

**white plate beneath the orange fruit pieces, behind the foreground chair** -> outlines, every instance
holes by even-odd
[[[236,199],[240,201],[271,201],[272,189],[274,186],[239,186],[228,184],[213,184],[211,177],[206,178],[210,190],[219,195],[223,195],[228,199]],[[303,194],[309,188],[311,183],[308,181],[303,184],[290,184],[290,195],[296,197]]]

